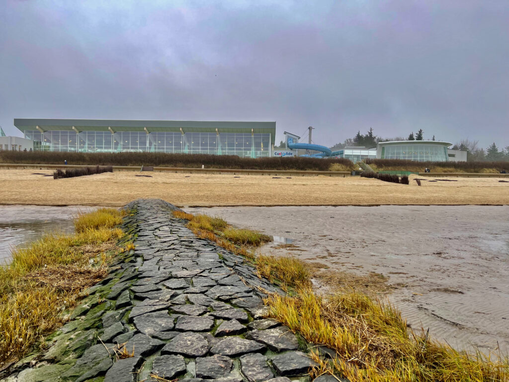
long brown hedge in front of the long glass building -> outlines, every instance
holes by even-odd
[[[61,165],[67,160],[69,165],[98,166],[155,166],[155,167],[194,167],[239,170],[310,170],[328,171],[335,168],[351,171],[353,162],[344,158],[241,158],[237,155],[212,154],[170,154],[158,152],[120,152],[120,153],[72,153],[51,151],[2,151],[0,163],[26,163],[37,165]],[[333,167],[334,168],[334,167]]]

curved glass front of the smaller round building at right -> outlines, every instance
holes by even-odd
[[[445,162],[447,155],[447,146],[444,145],[394,144],[382,146],[380,158]]]

